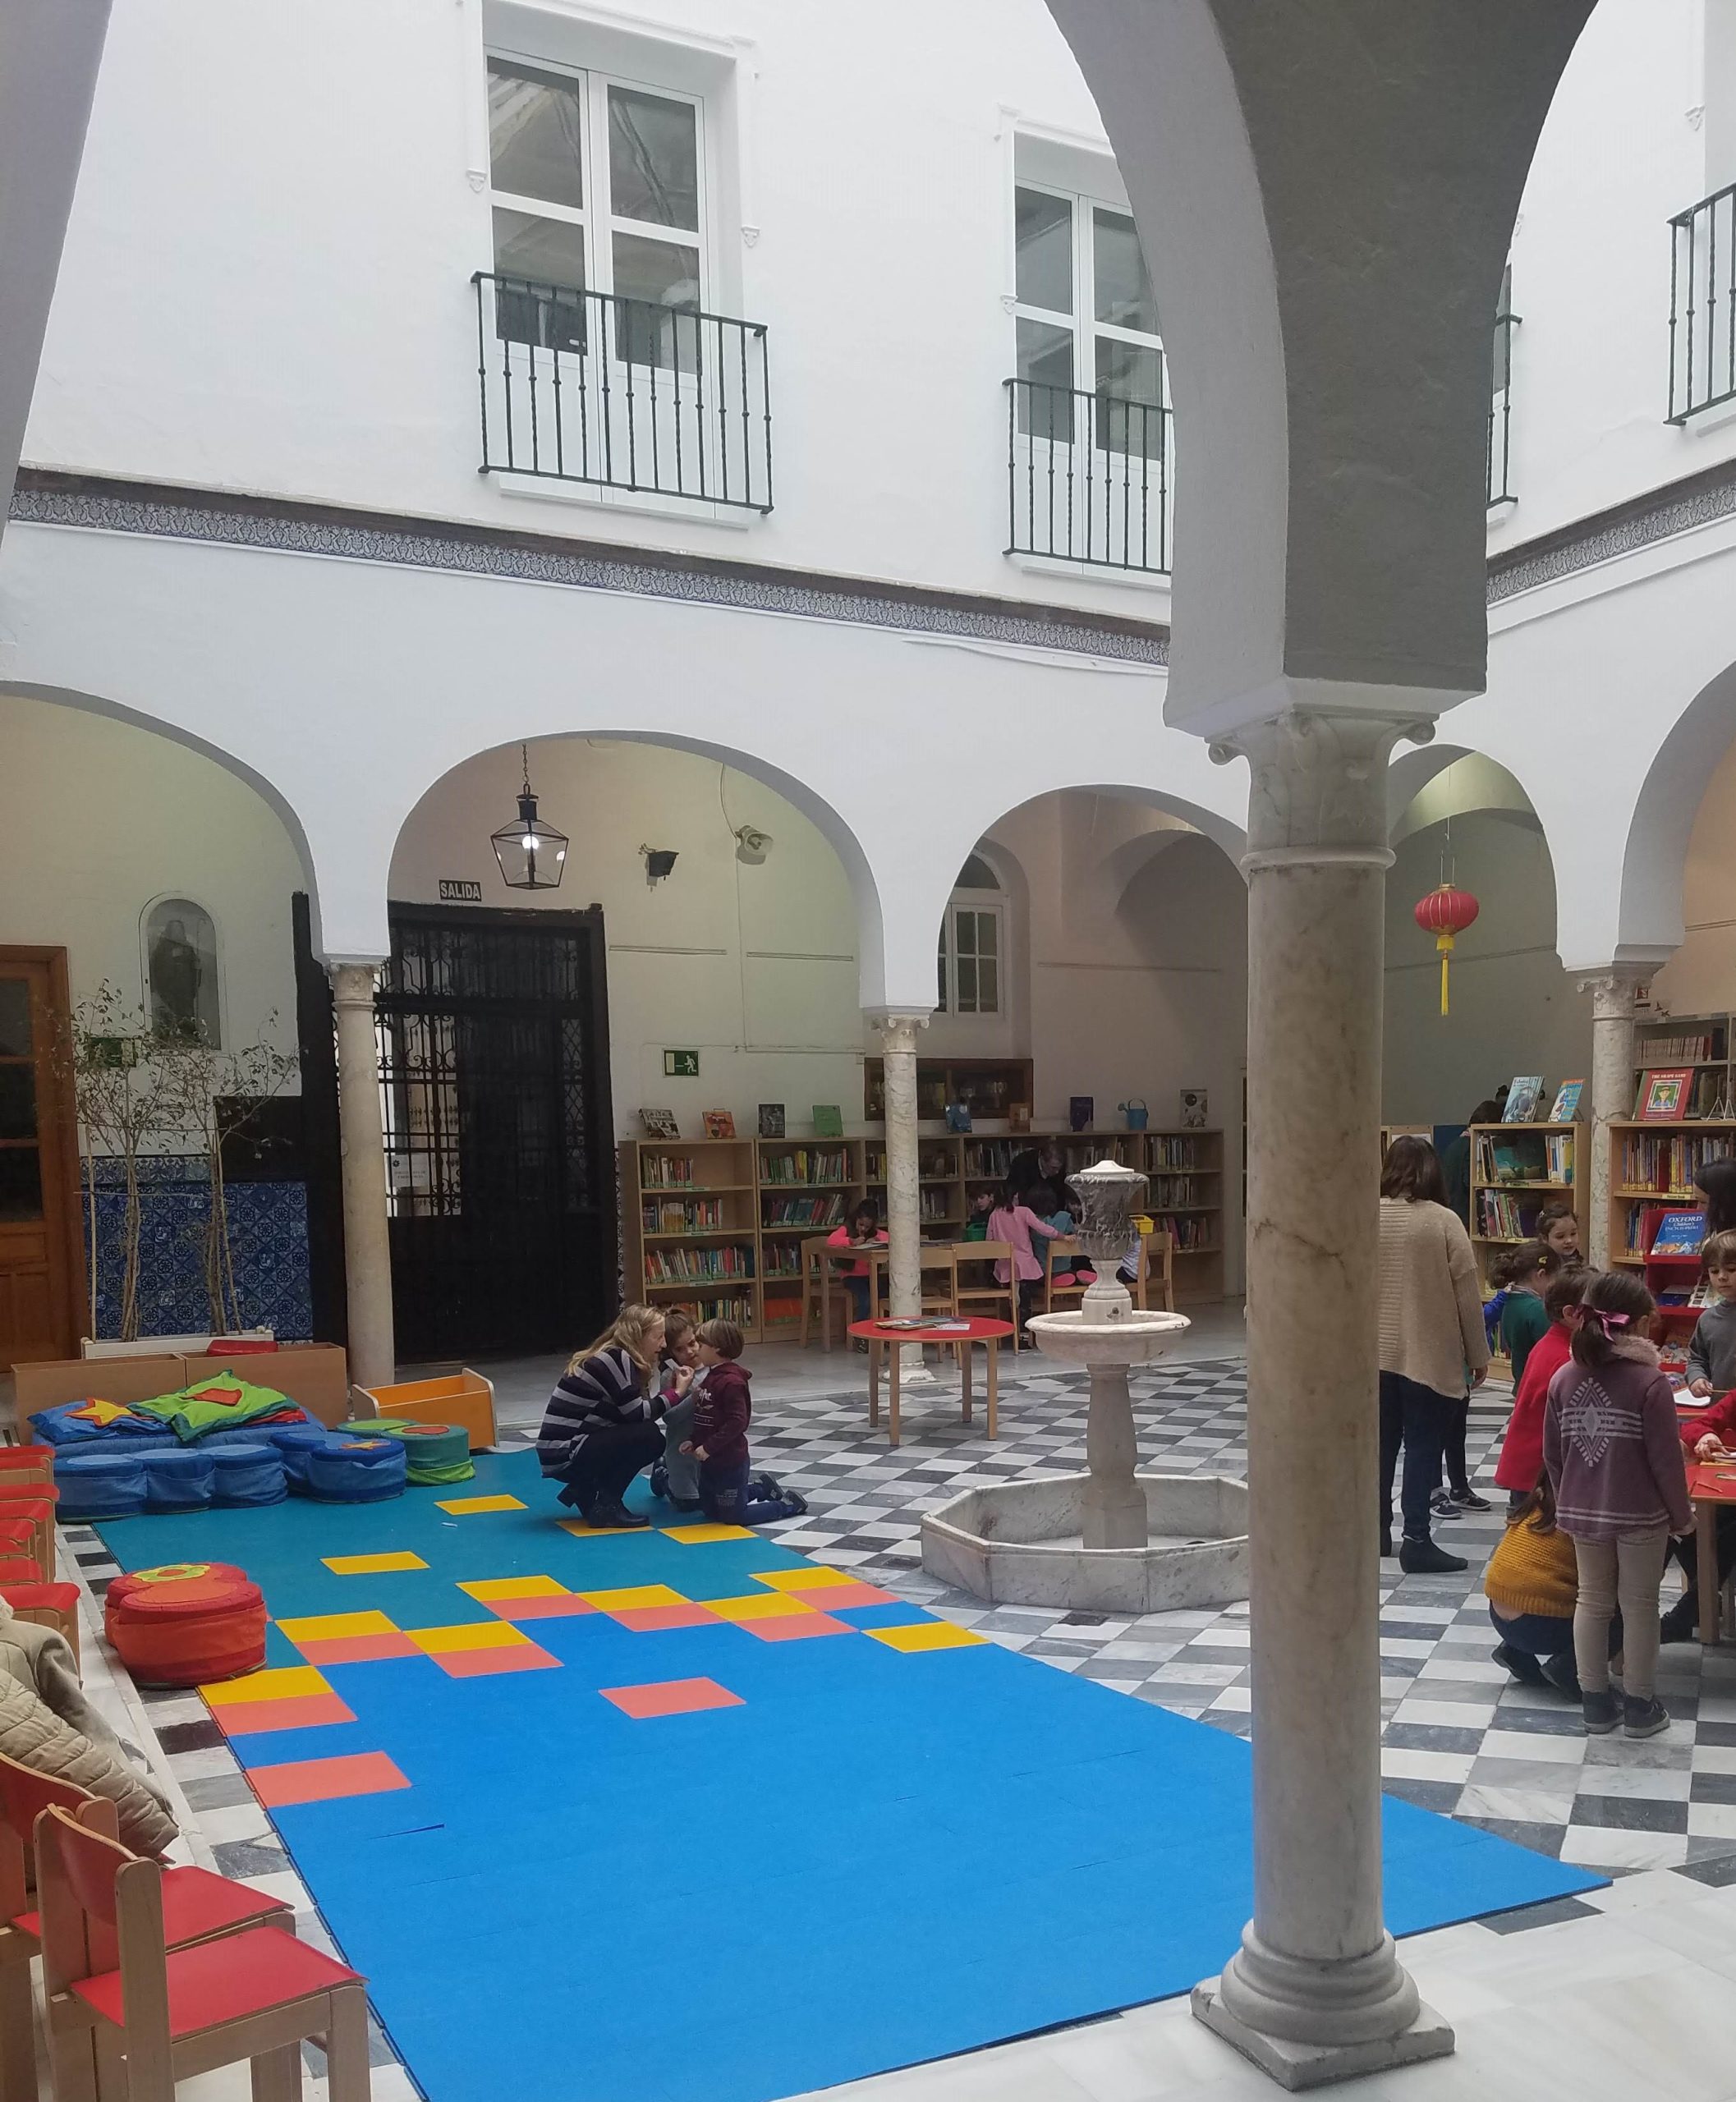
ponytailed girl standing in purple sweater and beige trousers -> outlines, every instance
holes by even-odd
[[[1639,1278],[1593,1274],[1570,1314],[1572,1358],[1549,1381],[1543,1463],[1562,1530],[1578,1560],[1574,1661],[1589,1736],[1618,1722],[1629,1736],[1669,1730],[1656,1698],[1658,1583],[1671,1532],[1694,1507],[1675,1427],[1675,1396],[1641,1335],[1656,1312]],[[1610,1692],[1610,1619],[1623,1614],[1627,1698]]]

